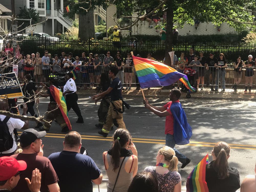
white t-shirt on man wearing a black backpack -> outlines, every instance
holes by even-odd
[[[0,120],[1,120],[1,121],[4,121],[4,118],[5,118],[5,117],[6,117],[5,115],[0,115]],[[16,142],[15,142],[13,130],[14,130],[15,128],[16,128],[16,129],[21,129],[21,128],[24,126],[25,122],[22,121],[22,120],[20,120],[20,119],[14,119],[14,118],[11,117],[11,118],[7,121],[6,124],[7,124],[8,128],[9,128],[10,134],[12,134],[12,138],[13,138],[13,147],[12,147],[11,149],[7,150],[7,151],[2,152],[2,153],[4,153],[4,154],[5,154],[5,153],[12,153],[12,152],[14,152],[14,151],[16,150],[17,144],[16,144]]]

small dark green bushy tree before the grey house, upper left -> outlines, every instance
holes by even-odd
[[[20,14],[18,15],[19,19],[31,19],[31,25],[34,25],[39,22],[40,17],[36,9],[26,8],[26,6],[24,6],[23,8],[22,7],[19,7],[19,8],[20,8]],[[23,27],[30,26],[30,21],[18,20],[18,26],[19,25],[22,25]]]

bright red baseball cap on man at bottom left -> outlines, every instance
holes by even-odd
[[[0,157],[0,181],[8,180],[26,168],[25,161],[17,161],[13,157]]]

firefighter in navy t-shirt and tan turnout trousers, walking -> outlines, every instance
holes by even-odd
[[[108,88],[108,90],[98,95],[93,95],[93,99],[98,100],[98,97],[101,97],[110,93],[111,103],[109,106],[106,123],[103,125],[102,130],[98,132],[103,137],[106,137],[109,134],[109,131],[113,123],[118,128],[126,129],[123,121],[124,106],[123,106],[123,97],[122,97],[122,83],[120,79],[116,77],[117,73],[118,73],[117,67],[111,67],[109,70],[109,78],[112,79],[110,87]]]

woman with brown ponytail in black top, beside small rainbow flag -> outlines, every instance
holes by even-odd
[[[212,150],[212,160],[206,165],[205,180],[209,192],[235,192],[240,188],[240,177],[237,168],[228,166],[230,146],[221,141]]]

